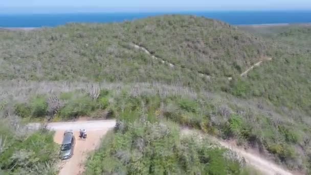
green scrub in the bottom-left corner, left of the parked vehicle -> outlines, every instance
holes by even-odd
[[[12,116],[0,119],[0,174],[57,174],[52,132],[30,131]]]

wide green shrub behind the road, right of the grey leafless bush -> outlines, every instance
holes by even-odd
[[[60,116],[66,119],[85,116],[96,109],[96,101],[89,96],[81,96],[69,100],[60,110]]]

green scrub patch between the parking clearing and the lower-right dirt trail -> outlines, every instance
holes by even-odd
[[[180,137],[171,123],[119,122],[87,161],[85,174],[249,174],[230,154],[207,140]]]

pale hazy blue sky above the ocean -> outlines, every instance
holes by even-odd
[[[311,0],[0,0],[0,10],[76,9],[92,11],[270,10],[309,9]],[[45,11],[43,10],[43,11]]]

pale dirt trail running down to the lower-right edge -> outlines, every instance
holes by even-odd
[[[199,137],[207,137],[206,135],[203,136],[201,132],[198,130],[193,130],[189,128],[182,128],[181,133],[183,135],[198,135]],[[275,163],[268,161],[260,155],[252,154],[250,152],[247,152],[246,150],[243,150],[239,147],[236,147],[233,144],[230,144],[229,142],[219,140],[217,138],[208,136],[208,139],[212,140],[215,143],[219,143],[219,145],[226,147],[228,149],[233,150],[236,152],[238,155],[242,156],[245,158],[247,164],[253,166],[257,170],[259,170],[262,174],[266,175],[294,175],[292,172],[285,170],[284,168],[280,167],[279,165],[276,165]]]

